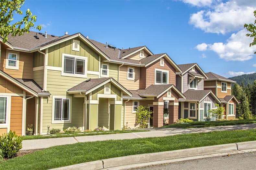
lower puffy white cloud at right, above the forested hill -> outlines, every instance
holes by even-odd
[[[220,58],[226,61],[246,61],[253,58],[253,53],[256,51],[256,46],[249,47],[252,42],[252,37],[245,36],[246,29],[240,30],[238,33],[232,34],[227,43],[214,43],[214,44],[199,44],[195,48],[199,51],[211,50],[219,55]]]

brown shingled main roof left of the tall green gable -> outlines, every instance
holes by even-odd
[[[37,35],[39,39],[36,39],[34,35]],[[47,38],[45,38],[44,36],[40,35],[38,32],[29,31],[29,34],[24,33],[23,35],[15,36],[15,37],[8,35],[8,42],[11,43],[11,45],[14,47],[32,49],[36,46],[39,46],[41,44],[44,44],[46,42],[52,41],[57,38],[59,38],[59,36],[52,37],[49,34],[47,34]]]

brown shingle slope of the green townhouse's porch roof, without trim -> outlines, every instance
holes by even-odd
[[[107,78],[94,78],[94,79],[88,79],[70,89],[68,89],[68,91],[88,91],[90,89],[92,89],[93,87],[107,81],[111,79],[111,77],[107,77]]]

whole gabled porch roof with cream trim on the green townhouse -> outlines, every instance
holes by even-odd
[[[124,92],[124,94],[132,96],[131,92],[129,92],[126,88],[124,88],[121,84],[119,84],[115,79],[112,77],[107,78],[93,78],[88,79],[70,89],[67,90],[67,93],[82,93],[89,94],[93,90],[105,85],[106,83],[111,82],[112,84],[116,85],[120,90]]]

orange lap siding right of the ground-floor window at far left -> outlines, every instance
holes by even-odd
[[[10,130],[15,131],[17,135],[22,134],[22,104],[23,97],[11,97]]]

